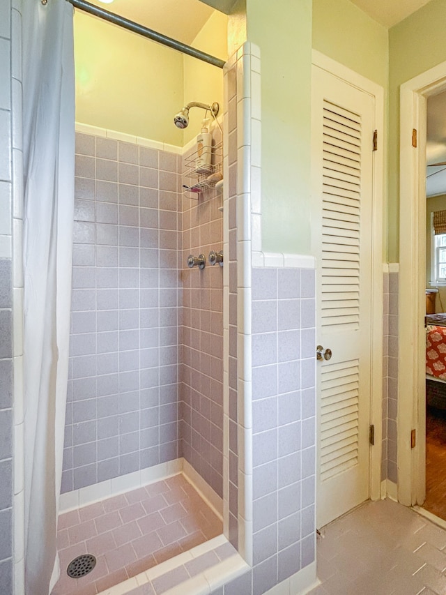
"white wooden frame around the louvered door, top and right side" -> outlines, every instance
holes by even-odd
[[[382,421],[383,421],[383,188],[384,159],[387,135],[384,130],[384,89],[382,86],[355,73],[343,64],[317,50],[312,52],[312,63],[375,99],[375,128],[378,130],[378,151],[374,157],[373,172],[373,259],[371,296],[371,412],[370,423],[375,426],[375,446],[370,449],[369,497],[379,499],[381,483]],[[371,144],[372,140],[370,140]],[[316,296],[317,299],[317,296]],[[316,448],[318,448],[316,442]],[[317,504],[317,495],[316,495]]]

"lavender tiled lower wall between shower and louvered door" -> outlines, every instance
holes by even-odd
[[[252,269],[253,593],[315,559],[315,281]]]

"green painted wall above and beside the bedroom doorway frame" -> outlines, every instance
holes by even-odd
[[[446,0],[431,0],[389,31],[388,260],[399,261],[399,86],[446,61]]]

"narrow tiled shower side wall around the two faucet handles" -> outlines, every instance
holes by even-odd
[[[213,128],[213,144],[222,135]],[[195,151],[192,147],[185,159]],[[221,149],[217,151],[221,160]],[[187,183],[192,181],[187,180]],[[213,188],[183,195],[183,455],[220,497],[223,496],[223,269],[210,266],[210,250],[223,248],[222,193]],[[206,267],[189,269],[187,257],[206,256]],[[181,253],[180,253],[181,255]],[[227,257],[227,255],[224,255]]]

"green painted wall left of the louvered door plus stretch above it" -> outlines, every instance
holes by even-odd
[[[312,47],[386,91],[387,29],[348,0],[247,0],[247,38],[262,60],[263,250],[308,254]]]

